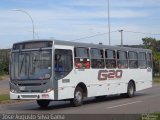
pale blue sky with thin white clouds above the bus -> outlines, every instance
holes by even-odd
[[[109,0],[111,45],[160,40],[160,0]],[[15,11],[16,9],[21,11]],[[109,44],[108,0],[0,0],[0,49],[19,41],[56,39]]]

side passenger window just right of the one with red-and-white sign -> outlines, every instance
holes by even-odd
[[[104,68],[105,64],[104,64],[103,50],[91,48],[90,53],[91,53],[91,67],[95,69]]]

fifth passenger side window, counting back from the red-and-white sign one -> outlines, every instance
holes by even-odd
[[[129,68],[138,68],[137,52],[128,52]]]

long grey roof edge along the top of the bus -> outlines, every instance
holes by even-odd
[[[26,40],[26,41],[22,41],[22,42],[17,42],[15,44],[22,44],[22,43],[28,43],[28,42],[38,42],[38,41],[53,41],[55,45],[66,45],[66,46],[74,46],[74,47],[89,47],[89,48],[110,49],[110,50],[151,52],[150,49],[143,49],[143,48],[109,46],[109,45],[100,45],[100,44],[93,44],[93,43],[80,43],[80,42],[73,42],[73,41],[50,40],[50,39]]]

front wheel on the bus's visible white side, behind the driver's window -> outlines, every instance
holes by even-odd
[[[73,106],[77,107],[83,104],[83,90],[81,87],[77,87],[74,92],[74,98],[71,100]]]

